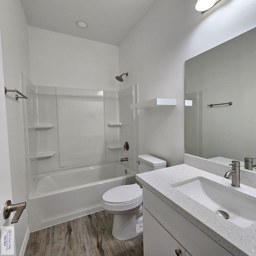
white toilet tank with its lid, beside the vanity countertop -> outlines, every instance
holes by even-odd
[[[166,161],[150,155],[138,156],[139,173],[157,170],[161,168],[166,168]]]

